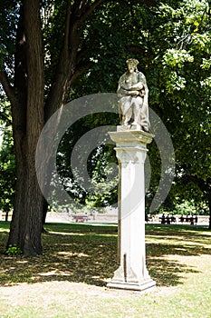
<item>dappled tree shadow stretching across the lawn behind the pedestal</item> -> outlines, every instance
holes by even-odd
[[[0,285],[47,281],[106,285],[118,267],[116,226],[48,224],[46,228],[52,233],[43,234],[43,255],[0,255]],[[194,267],[172,262],[165,255],[210,254],[206,248],[207,236],[203,235],[203,232],[193,234],[184,228],[180,231],[177,228],[173,231],[173,227],[171,231],[159,230],[156,226],[149,228],[147,263],[151,278],[159,286],[175,286],[183,283],[186,273],[197,273]],[[0,237],[0,251],[4,252],[8,233],[2,232]],[[168,242],[162,242],[162,238]]]

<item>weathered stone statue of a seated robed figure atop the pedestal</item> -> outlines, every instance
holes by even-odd
[[[128,71],[121,75],[117,94],[120,97],[120,124],[149,132],[149,90],[145,75],[138,71],[139,61],[129,58]]]

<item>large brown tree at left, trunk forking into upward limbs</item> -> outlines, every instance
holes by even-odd
[[[17,174],[14,216],[8,244],[17,244],[24,254],[42,253],[43,195],[37,183],[34,165],[36,144],[44,122],[65,103],[72,80],[85,67],[81,57],[82,24],[103,2],[55,2],[52,16],[56,19],[57,13],[65,13],[65,18],[62,18],[62,44],[53,64],[52,82],[47,87],[46,97],[40,1],[20,1],[9,5],[5,1],[1,4],[9,30],[11,15],[18,17],[16,34],[14,29],[10,34],[10,40],[13,43],[15,41],[14,60],[10,59],[10,67],[6,65],[6,58],[1,60],[0,81],[12,104]],[[8,44],[6,35],[5,44]],[[4,50],[11,53],[6,45]],[[9,72],[13,70],[11,76],[8,69]]]

